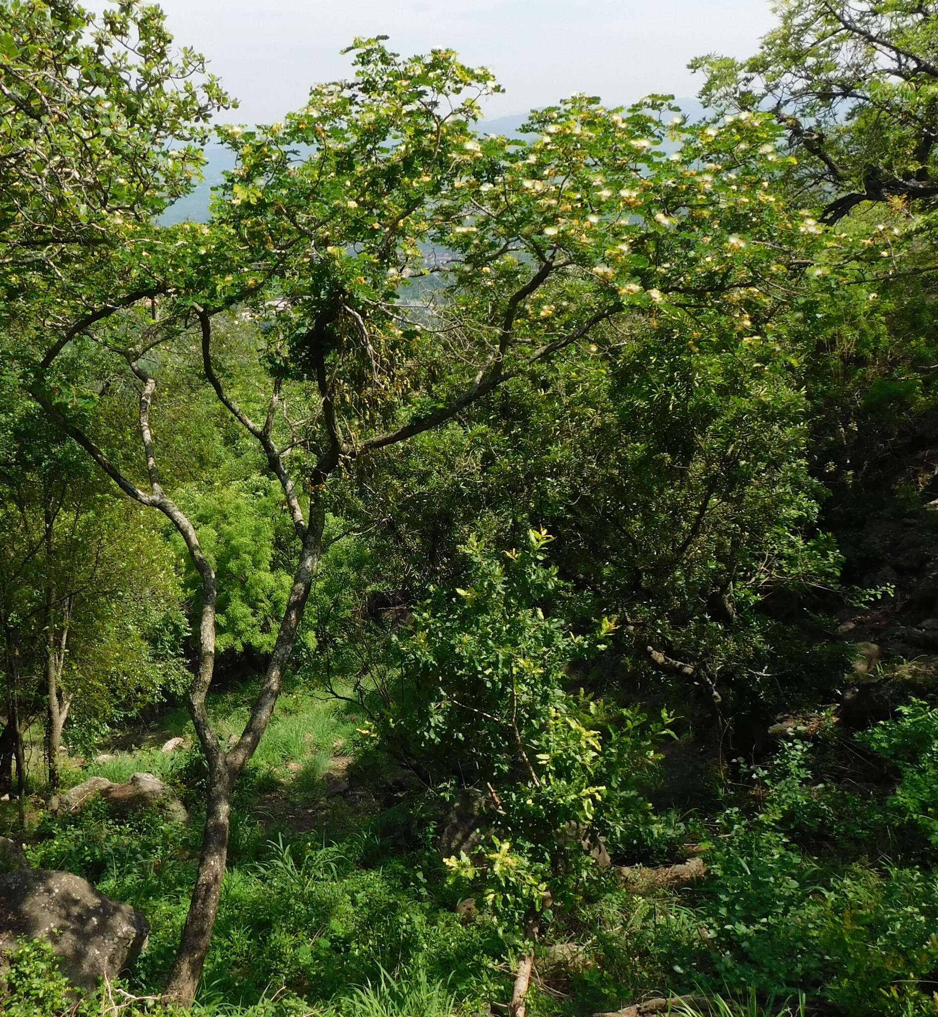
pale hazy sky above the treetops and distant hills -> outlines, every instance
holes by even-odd
[[[100,9],[106,0],[89,6]],[[160,0],[179,43],[211,60],[240,109],[272,121],[310,84],[346,76],[355,36],[388,35],[400,53],[451,46],[491,67],[507,95],[485,116],[546,106],[574,92],[607,103],[650,92],[696,95],[696,55],[753,53],[769,0]]]

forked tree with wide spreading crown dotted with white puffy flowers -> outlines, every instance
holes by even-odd
[[[122,10],[130,17],[135,8]],[[134,23],[158,22],[143,11]],[[121,38],[113,35],[108,46]],[[68,40],[61,59],[70,65],[84,58]],[[642,319],[662,354],[691,342],[735,349],[753,372],[773,369],[780,349],[756,322],[797,268],[789,252],[810,245],[815,230],[777,199],[784,160],[770,117],[743,113],[699,128],[672,117],[663,98],[609,110],[577,96],[533,114],[524,141],[480,136],[479,100],[497,89],[486,69],[449,50],[401,58],[382,40],[353,49],[355,77],[314,88],[282,123],[220,129],[237,166],[209,225],[161,228],[143,210],[128,215],[119,191],[108,191],[96,221],[107,243],[82,247],[4,311],[32,398],[124,496],[170,521],[198,576],[188,701],[210,784],[167,988],[182,1002],[192,999],[211,941],[232,791],[275,709],[326,513],[345,478],[507,380],[542,370],[596,330],[628,336]],[[166,77],[160,66],[154,73]],[[129,180],[137,157],[119,139],[138,140],[141,128],[106,130],[94,120],[98,109],[85,110],[86,129]],[[201,115],[177,113],[174,134]],[[25,132],[28,118],[23,124]],[[155,165],[169,166],[159,131],[146,136]],[[89,176],[100,170],[94,161],[80,166]],[[146,213],[175,194],[176,177],[163,173],[151,178],[162,198]],[[33,255],[7,236],[3,255],[33,272]],[[259,323],[248,363],[223,342],[235,307]],[[270,663],[229,747],[206,707],[214,553],[170,493],[160,455],[164,442],[192,439],[160,393],[193,375],[279,483],[295,537]],[[114,420],[131,393],[136,437],[128,441],[129,416],[123,427]]]

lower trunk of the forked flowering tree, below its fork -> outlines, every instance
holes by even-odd
[[[218,914],[222,880],[228,860],[228,835],[231,829],[231,792],[234,780],[227,764],[211,777],[206,830],[202,834],[198,875],[189,902],[182,939],[176,952],[173,970],[164,997],[183,1006],[191,1004],[212,943],[212,930]]]

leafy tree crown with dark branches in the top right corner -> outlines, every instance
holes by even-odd
[[[836,223],[867,202],[931,207],[938,14],[919,0],[786,0],[749,60],[702,57],[703,98],[771,111],[804,159],[803,185]]]

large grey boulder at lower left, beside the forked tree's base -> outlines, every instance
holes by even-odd
[[[82,992],[132,964],[149,933],[140,911],[105,897],[72,873],[21,869],[0,876],[0,948],[48,940],[68,979]]]

